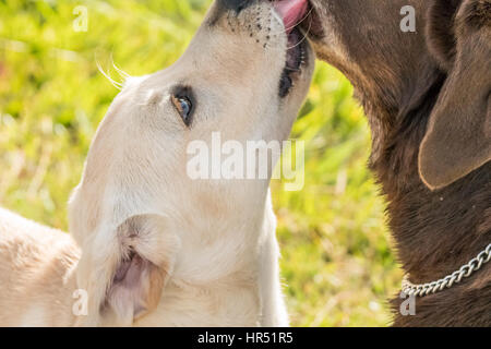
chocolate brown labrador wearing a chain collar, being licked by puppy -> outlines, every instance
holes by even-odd
[[[318,58],[346,74],[369,118],[370,168],[410,282],[439,280],[487,248],[489,261],[491,0],[310,5],[302,27]],[[405,11],[414,32],[402,29]],[[415,315],[399,312],[407,299],[397,297],[394,325],[491,326],[491,263],[464,272],[417,297]]]

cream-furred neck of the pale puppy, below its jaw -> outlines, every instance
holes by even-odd
[[[183,229],[181,251],[160,303],[135,325],[191,326],[196,318],[205,326],[259,324],[266,287],[262,282],[272,277],[262,274],[274,237],[271,201],[266,194],[262,202],[243,207],[233,203],[229,209],[228,217],[195,215]]]

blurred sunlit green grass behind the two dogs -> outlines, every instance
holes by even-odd
[[[131,75],[182,53],[208,0],[0,0],[0,205],[67,229],[67,201],[117,94],[98,72]],[[73,9],[88,9],[76,33]],[[384,202],[367,170],[370,135],[335,69],[319,63],[292,137],[306,141],[306,185],[273,182],[292,324],[384,326],[400,270]]]

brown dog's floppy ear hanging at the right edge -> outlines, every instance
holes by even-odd
[[[419,153],[421,179],[432,190],[491,159],[491,0],[463,1],[454,33],[455,57],[446,50],[448,76]]]

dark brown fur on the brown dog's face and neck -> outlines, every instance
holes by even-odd
[[[457,57],[456,43],[462,35],[488,31],[483,27],[491,25],[491,1],[311,3],[315,10],[311,39],[318,56],[350,79],[369,118],[373,136],[370,167],[388,202],[388,225],[404,270],[418,284],[453,273],[491,242],[491,163],[432,191],[421,180],[418,155],[436,103],[442,92],[452,87],[448,79]],[[399,10],[406,4],[417,11],[417,33],[397,29]],[[333,43],[327,31],[336,31],[346,51],[343,59],[330,49]],[[487,39],[487,35],[481,36]],[[484,67],[489,64],[486,49],[463,55],[481,55]],[[466,86],[472,91],[477,84],[483,96],[489,96],[489,70],[478,75],[478,80],[462,81],[463,98]],[[491,116],[488,106],[486,117],[484,101],[480,106],[484,106],[486,125],[479,124],[477,131],[489,137],[486,127]],[[482,108],[477,110],[482,113]],[[482,142],[489,144],[489,139]],[[392,302],[395,326],[491,326],[491,263],[451,289],[417,299],[415,316],[400,315],[400,302],[398,297]]]

